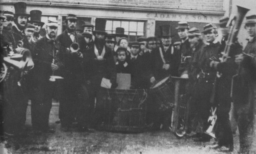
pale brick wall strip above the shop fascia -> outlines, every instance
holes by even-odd
[[[16,0],[3,0],[15,1]],[[143,8],[223,11],[224,0],[27,0],[27,2],[60,2],[88,5],[110,5]]]

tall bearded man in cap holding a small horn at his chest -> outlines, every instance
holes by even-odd
[[[74,14],[68,14],[66,18],[67,29],[57,36],[56,40],[60,42],[60,60],[64,64],[61,70],[61,76],[64,77],[64,87],[62,88],[62,96],[60,97],[59,117],[63,131],[70,130],[74,118],[78,122],[79,131],[87,131],[87,90],[85,88],[85,74],[83,70],[83,49],[75,50],[70,47],[80,44],[84,38],[81,34],[77,34],[75,28],[77,26],[77,17]],[[74,51],[75,50],[75,51]]]

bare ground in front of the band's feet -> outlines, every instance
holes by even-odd
[[[51,109],[50,127],[55,133],[34,135],[31,131],[30,106],[27,109],[26,131],[24,138],[7,138],[0,144],[0,153],[26,154],[221,154],[225,149],[215,150],[214,139],[208,143],[195,142],[192,138],[178,139],[172,132],[144,132],[137,134],[122,134],[95,131],[62,132],[58,120],[58,105]],[[238,135],[234,135],[236,154],[239,150]],[[3,148],[5,147],[5,148]],[[254,141],[256,153],[256,141]],[[2,152],[1,152],[2,151]]]

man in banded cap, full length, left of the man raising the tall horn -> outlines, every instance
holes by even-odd
[[[207,24],[204,26],[203,34],[206,37],[207,45],[205,45],[200,53],[200,56],[196,56],[194,61],[196,63],[193,66],[196,68],[194,72],[197,74],[197,82],[195,85],[195,102],[196,102],[196,113],[198,120],[201,121],[202,130],[204,132],[208,125],[207,119],[209,117],[209,111],[212,107],[210,103],[210,98],[212,96],[212,88],[216,77],[216,61],[212,59],[215,57],[218,59],[220,57],[220,43],[217,41],[217,27],[213,24]],[[201,134],[200,138],[197,141],[210,141],[210,136],[206,134]]]

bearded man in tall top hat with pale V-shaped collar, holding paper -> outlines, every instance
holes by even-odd
[[[91,120],[96,127],[104,122],[104,101],[103,93],[106,89],[101,87],[101,80],[104,78],[110,79],[112,88],[116,88],[116,67],[111,50],[105,45],[106,20],[97,18],[95,21],[95,42],[92,48],[86,51],[86,73],[88,87],[90,87],[90,111]],[[93,115],[95,107],[95,114]],[[106,112],[106,111],[105,111]]]

